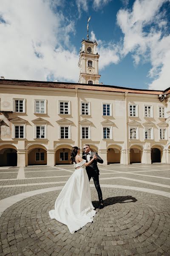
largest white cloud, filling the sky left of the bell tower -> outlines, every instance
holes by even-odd
[[[78,81],[78,59],[69,35],[74,23],[61,12],[60,0],[1,0],[0,75],[6,79]],[[68,48],[69,46],[69,48]],[[70,50],[68,50],[70,49]]]

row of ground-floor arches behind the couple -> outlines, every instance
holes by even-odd
[[[70,163],[72,145],[57,144],[53,149],[41,143],[30,143],[25,149],[18,148],[13,143],[0,145],[0,166],[29,166],[29,165],[62,165]],[[123,149],[121,145],[108,145],[106,149],[99,149],[91,145],[91,150],[98,152],[104,164],[130,164],[130,163],[170,163],[170,145],[130,145]]]

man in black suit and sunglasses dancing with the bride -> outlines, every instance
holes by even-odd
[[[99,157],[97,153],[91,152],[91,148],[88,144],[83,145],[83,151],[85,154],[82,156],[82,159],[86,160],[87,163],[92,159],[92,157],[95,154],[94,161],[89,166],[86,166],[86,171],[88,174],[89,181],[91,180],[91,177],[94,180],[94,185],[96,187],[98,197],[99,197],[99,209],[102,209],[103,199],[102,199],[102,190],[99,184],[99,169],[97,167],[97,162],[103,163],[103,160],[102,158]]]

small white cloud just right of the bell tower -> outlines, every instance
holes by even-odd
[[[116,46],[112,42],[107,44],[102,40],[97,40],[94,32],[91,32],[91,40],[97,41],[98,47],[97,51],[99,52],[99,70],[104,69],[106,66],[119,62],[119,46]]]

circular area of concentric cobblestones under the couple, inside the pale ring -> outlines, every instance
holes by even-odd
[[[170,255],[170,199],[146,192],[102,188],[105,207],[71,235],[48,215],[59,191],[26,198],[0,218],[0,255]],[[91,188],[97,207],[96,190]]]

